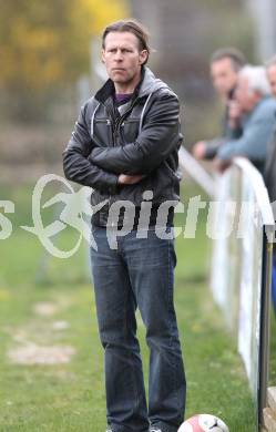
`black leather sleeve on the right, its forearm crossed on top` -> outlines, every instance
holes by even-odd
[[[117,174],[149,174],[177,148],[181,141],[178,101],[174,94],[165,93],[153,102],[135,142],[95,147],[90,160]]]

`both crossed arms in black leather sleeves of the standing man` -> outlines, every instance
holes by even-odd
[[[102,147],[91,138],[85,109],[82,109],[63,152],[63,168],[67,178],[100,192],[114,194],[121,174],[141,178],[150,174],[177,147],[182,138],[178,101],[172,93],[155,99],[134,142],[114,147]]]

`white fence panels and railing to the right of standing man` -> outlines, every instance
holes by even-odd
[[[237,338],[260,426],[268,380],[274,216],[263,177],[246,158],[235,158],[217,178],[215,199],[215,223],[225,236],[213,240],[211,289]]]

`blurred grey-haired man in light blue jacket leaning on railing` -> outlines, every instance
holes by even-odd
[[[264,173],[276,110],[276,101],[270,96],[265,68],[246,65],[242,69],[235,99],[238,111],[235,127],[242,127],[243,132],[241,137],[225,141],[219,146],[216,166],[223,171],[231,164],[233,157],[244,156]],[[233,133],[235,135],[235,128]]]

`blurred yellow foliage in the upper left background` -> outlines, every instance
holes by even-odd
[[[126,14],[123,0],[0,0],[0,88],[74,82],[89,71],[91,38]]]

